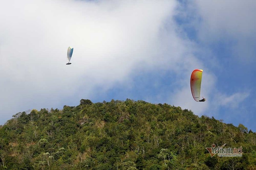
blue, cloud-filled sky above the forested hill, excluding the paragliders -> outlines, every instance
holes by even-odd
[[[256,131],[255,0],[0,2],[0,124],[129,98]],[[204,70],[205,102],[191,95],[194,69]]]

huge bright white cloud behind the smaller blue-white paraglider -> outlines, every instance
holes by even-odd
[[[133,70],[176,66],[187,53],[172,20],[176,3],[4,1],[1,116],[73,104],[75,99],[78,103],[97,94],[96,87],[106,91],[116,82],[127,82]],[[68,46],[74,52],[67,66]]]

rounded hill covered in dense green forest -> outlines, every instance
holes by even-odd
[[[211,157],[212,144],[242,157]],[[0,126],[0,169],[256,169],[256,133],[144,101],[31,110]]]

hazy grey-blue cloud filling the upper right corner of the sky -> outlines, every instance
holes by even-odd
[[[226,42],[239,62],[255,62],[256,43],[256,1],[237,0],[196,0],[196,9],[200,40],[204,43]],[[195,12],[195,11],[193,11]]]

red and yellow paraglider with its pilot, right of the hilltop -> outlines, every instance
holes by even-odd
[[[206,99],[200,100],[200,90],[201,90],[201,81],[202,81],[203,70],[195,69],[190,78],[190,88],[191,93],[196,102],[204,102]]]

